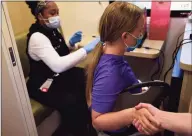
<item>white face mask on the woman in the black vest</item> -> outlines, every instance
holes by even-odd
[[[43,16],[42,16],[42,18],[43,18]],[[49,23],[45,22],[45,24],[48,28],[56,29],[56,28],[60,27],[60,17],[59,16],[49,17],[48,19],[43,19],[43,20],[49,21]]]

